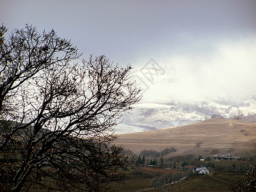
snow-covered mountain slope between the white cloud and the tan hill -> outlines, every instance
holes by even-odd
[[[243,102],[214,99],[211,102],[140,102],[134,105],[132,113],[125,113],[122,124],[116,126],[116,133],[150,131],[192,124],[212,116],[239,118],[256,122],[256,97]]]

